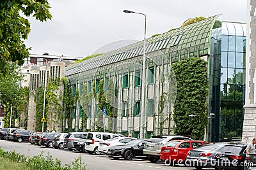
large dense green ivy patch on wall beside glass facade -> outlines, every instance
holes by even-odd
[[[209,82],[206,64],[205,60],[197,57],[189,57],[172,64],[177,79],[173,112],[175,133],[192,139],[204,139],[207,125]]]

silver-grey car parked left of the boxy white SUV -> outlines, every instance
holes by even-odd
[[[81,141],[86,139],[88,132],[69,132],[64,138],[64,148],[68,148],[68,150],[73,150],[74,141]]]

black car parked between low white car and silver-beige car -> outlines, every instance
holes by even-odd
[[[111,146],[108,149],[108,156],[113,159],[124,157],[125,160],[132,160],[136,156],[143,156],[143,148],[148,139],[136,139],[125,145]]]

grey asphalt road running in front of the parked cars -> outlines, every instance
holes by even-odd
[[[33,157],[34,155],[39,155],[41,152],[49,152],[52,157],[60,159],[62,164],[69,164],[74,159],[79,157],[79,152],[70,152],[69,150],[57,150],[54,148],[45,148],[44,146],[31,145],[30,143],[17,143],[13,141],[0,140],[0,146],[3,150],[13,151],[24,155],[29,155]],[[157,169],[195,169],[191,167],[184,166],[165,166],[164,162],[157,162],[156,164],[150,163],[145,159],[132,159],[124,160],[114,160],[109,158],[107,155],[89,155],[88,153],[81,153],[82,160],[86,164],[86,168],[90,170],[113,170],[113,169],[129,169],[129,170],[157,170]],[[205,168],[207,170],[212,170],[212,168]]]

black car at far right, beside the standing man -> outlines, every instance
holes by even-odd
[[[226,145],[215,155],[216,170],[221,169],[244,169],[247,145]]]

